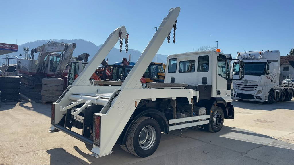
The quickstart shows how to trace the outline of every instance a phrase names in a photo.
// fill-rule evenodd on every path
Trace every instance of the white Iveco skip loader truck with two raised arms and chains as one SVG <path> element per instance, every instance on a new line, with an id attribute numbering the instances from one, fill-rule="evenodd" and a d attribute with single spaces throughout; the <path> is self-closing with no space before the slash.
<path id="1" fill-rule="evenodd" d="M 115 143 L 139 157 L 153 154 L 161 132 L 188 127 L 218 132 L 224 119 L 234 119 L 230 54 L 218 51 L 168 56 L 165 83 L 140 79 L 166 36 L 176 29 L 180 7 L 170 9 L 123 82 L 95 85 L 89 78 L 113 46 L 128 37 L 125 26 L 114 30 L 61 97 L 51 104 L 49 132 L 62 131 L 93 147 L 91 155 L 112 153 Z M 238 59 L 234 59 L 238 60 Z M 242 60 L 240 80 L 243 78 Z M 72 127 L 82 129 L 78 134 Z"/>

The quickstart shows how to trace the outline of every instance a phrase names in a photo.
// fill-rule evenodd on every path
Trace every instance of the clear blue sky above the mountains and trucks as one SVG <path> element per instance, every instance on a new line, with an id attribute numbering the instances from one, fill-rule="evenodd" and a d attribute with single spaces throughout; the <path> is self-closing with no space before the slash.
<path id="1" fill-rule="evenodd" d="M 215 41 L 224 53 L 233 56 L 244 50 L 280 50 L 286 55 L 294 47 L 293 0 L 27 0 L 1 1 L 1 6 L 2 43 L 82 38 L 100 45 L 114 29 L 124 25 L 129 48 L 142 52 L 155 33 L 153 27 L 160 25 L 171 7 L 180 6 L 176 43 L 165 41 L 160 54 L 189 52 L 192 47 L 215 45 Z"/>

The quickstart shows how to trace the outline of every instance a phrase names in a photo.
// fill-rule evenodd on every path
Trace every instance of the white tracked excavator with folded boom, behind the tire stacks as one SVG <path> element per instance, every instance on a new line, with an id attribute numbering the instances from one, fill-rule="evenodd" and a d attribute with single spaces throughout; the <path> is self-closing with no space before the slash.
<path id="1" fill-rule="evenodd" d="M 22 75 L 22 83 L 38 89 L 43 78 L 48 76 L 67 76 L 66 66 L 74 61 L 88 61 L 89 54 L 83 53 L 77 58 L 72 54 L 76 48 L 76 43 L 64 43 L 49 41 L 31 50 L 31 57 L 19 59 L 18 72 Z M 35 60 L 34 53 L 39 56 Z M 61 52 L 61 53 L 58 53 Z"/>

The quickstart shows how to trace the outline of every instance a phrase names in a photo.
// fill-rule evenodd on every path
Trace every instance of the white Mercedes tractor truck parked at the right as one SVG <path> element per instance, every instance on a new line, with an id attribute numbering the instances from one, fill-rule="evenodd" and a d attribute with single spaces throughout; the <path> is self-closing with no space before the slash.
<path id="1" fill-rule="evenodd" d="M 237 52 L 237 58 L 245 62 L 245 77 L 234 81 L 234 99 L 252 100 L 272 104 L 274 100 L 290 101 L 292 87 L 279 87 L 280 52 L 248 51 Z M 233 64 L 233 78 L 239 77 L 239 64 Z"/>

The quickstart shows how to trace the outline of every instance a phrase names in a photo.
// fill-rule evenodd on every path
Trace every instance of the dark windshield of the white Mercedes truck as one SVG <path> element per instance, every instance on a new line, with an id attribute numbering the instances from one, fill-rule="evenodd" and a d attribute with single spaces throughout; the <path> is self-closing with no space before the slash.
<path id="1" fill-rule="evenodd" d="M 245 75 L 260 76 L 265 74 L 266 63 L 245 63 Z M 233 65 L 233 75 L 239 75 L 239 64 Z"/>

